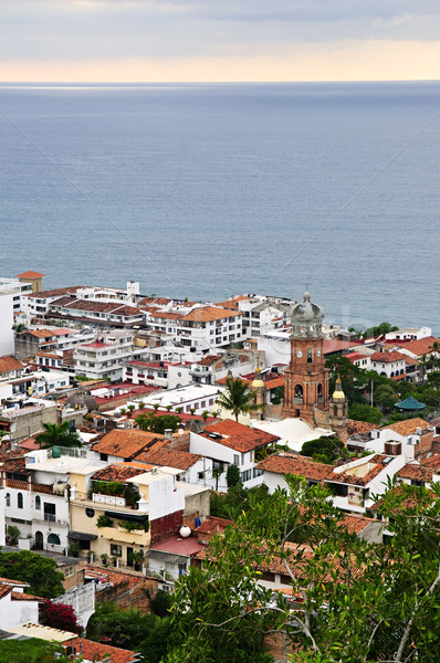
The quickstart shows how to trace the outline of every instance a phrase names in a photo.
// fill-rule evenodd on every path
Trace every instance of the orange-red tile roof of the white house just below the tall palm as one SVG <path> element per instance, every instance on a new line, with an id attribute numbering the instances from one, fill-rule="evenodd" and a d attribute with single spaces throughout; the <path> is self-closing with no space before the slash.
<path id="1" fill-rule="evenodd" d="M 210 436 L 210 433 L 217 433 L 221 438 L 214 439 Z M 259 429 L 251 429 L 231 419 L 223 419 L 222 421 L 206 425 L 199 435 L 241 453 L 264 446 L 265 444 L 272 444 L 280 440 L 277 435 L 272 435 Z"/>

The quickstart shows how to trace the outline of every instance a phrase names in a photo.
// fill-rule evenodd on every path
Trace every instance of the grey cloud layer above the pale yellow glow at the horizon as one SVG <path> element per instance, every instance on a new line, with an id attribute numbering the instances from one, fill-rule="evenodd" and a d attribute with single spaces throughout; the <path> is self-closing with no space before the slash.
<path id="1" fill-rule="evenodd" d="M 298 44 L 437 41 L 433 0 L 2 0 L 10 63 L 287 57 Z"/>

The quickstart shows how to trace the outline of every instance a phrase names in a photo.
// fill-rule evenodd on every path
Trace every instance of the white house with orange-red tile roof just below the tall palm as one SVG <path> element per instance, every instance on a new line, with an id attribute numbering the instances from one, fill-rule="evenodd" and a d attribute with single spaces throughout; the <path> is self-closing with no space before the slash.
<path id="1" fill-rule="evenodd" d="M 255 469 L 259 453 L 273 449 L 279 440 L 277 435 L 226 419 L 206 425 L 199 433 L 191 431 L 190 452 L 212 461 L 214 476 L 207 477 L 212 488 L 228 490 L 226 473 L 231 464 L 239 467 L 244 486 L 252 487 L 262 483 L 263 472 Z"/>

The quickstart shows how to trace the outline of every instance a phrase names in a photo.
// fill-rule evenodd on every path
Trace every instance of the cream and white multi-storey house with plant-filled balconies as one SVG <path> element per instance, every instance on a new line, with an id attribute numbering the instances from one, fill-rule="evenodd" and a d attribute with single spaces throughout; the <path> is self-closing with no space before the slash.
<path id="1" fill-rule="evenodd" d="M 185 494 L 179 473 L 135 461 L 87 475 L 72 473 L 71 538 L 95 558 L 133 567 L 137 554 L 181 526 Z"/>

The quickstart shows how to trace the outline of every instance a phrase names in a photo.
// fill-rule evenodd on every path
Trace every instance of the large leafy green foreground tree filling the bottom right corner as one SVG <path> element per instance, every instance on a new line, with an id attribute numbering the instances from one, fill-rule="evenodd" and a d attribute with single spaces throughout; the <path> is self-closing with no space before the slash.
<path id="1" fill-rule="evenodd" d="M 165 661 L 260 663 L 265 635 L 282 632 L 296 663 L 437 663 L 440 485 L 388 486 L 378 504 L 385 545 L 350 533 L 322 486 L 287 483 L 289 494 L 243 511 L 211 539 L 203 568 L 180 579 Z M 301 599 L 293 610 L 259 582 L 274 559 Z"/>

